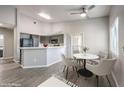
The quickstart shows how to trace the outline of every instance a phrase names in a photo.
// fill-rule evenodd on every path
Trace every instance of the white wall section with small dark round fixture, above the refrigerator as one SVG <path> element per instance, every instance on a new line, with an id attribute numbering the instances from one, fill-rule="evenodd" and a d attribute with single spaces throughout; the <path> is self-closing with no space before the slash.
<path id="1" fill-rule="evenodd" d="M 34 24 L 36 22 L 36 24 Z M 36 35 L 46 35 L 51 31 L 50 23 L 41 22 L 32 17 L 18 14 L 18 31 Z"/>

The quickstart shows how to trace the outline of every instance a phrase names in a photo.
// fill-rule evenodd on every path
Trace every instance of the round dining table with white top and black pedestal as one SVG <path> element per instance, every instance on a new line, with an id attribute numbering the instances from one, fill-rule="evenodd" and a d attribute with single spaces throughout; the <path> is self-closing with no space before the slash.
<path id="1" fill-rule="evenodd" d="M 78 73 L 85 77 L 91 77 L 93 75 L 92 72 L 86 69 L 87 60 L 98 59 L 99 56 L 90 53 L 78 53 L 73 55 L 77 60 L 83 60 L 84 67 L 78 70 Z"/>

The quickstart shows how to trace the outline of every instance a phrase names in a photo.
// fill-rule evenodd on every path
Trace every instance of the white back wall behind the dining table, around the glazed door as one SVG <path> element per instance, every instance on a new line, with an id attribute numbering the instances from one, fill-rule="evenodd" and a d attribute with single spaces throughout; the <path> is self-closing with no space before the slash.
<path id="1" fill-rule="evenodd" d="M 87 46 L 89 48 L 89 52 L 92 53 L 98 53 L 99 51 L 108 52 L 109 43 L 108 17 L 82 21 L 53 23 L 52 26 L 53 26 L 52 32 L 54 33 L 67 33 L 68 35 L 75 33 L 84 33 L 84 46 Z M 68 47 L 70 47 L 69 44 Z M 70 49 L 68 48 L 68 50 Z"/>

